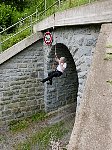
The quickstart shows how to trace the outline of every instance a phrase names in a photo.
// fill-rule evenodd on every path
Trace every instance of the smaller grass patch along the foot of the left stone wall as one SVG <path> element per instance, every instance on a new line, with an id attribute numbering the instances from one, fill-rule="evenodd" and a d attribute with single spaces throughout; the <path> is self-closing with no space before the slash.
<path id="1" fill-rule="evenodd" d="M 38 112 L 31 117 L 28 117 L 24 120 L 16 121 L 13 120 L 9 124 L 9 128 L 12 132 L 20 132 L 22 130 L 27 129 L 32 122 L 44 121 L 48 118 L 48 115 L 45 112 Z"/>

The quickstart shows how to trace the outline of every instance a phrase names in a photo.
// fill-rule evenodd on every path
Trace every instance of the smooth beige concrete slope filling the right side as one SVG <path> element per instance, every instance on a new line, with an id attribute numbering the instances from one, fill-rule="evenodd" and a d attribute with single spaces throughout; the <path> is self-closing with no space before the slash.
<path id="1" fill-rule="evenodd" d="M 112 24 L 103 24 L 68 150 L 112 150 Z"/>

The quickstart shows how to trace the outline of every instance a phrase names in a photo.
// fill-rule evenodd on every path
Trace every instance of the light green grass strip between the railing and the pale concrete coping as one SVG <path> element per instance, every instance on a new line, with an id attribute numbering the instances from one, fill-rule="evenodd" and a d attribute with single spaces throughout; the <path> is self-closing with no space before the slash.
<path id="1" fill-rule="evenodd" d="M 94 2 L 94 1 L 96 1 L 96 0 L 91 0 L 91 2 Z M 42 19 L 45 19 L 46 17 L 52 15 L 55 12 L 63 11 L 63 10 L 69 9 L 71 7 L 77 7 L 77 6 L 80 6 L 80 5 L 87 4 L 87 3 L 89 3 L 89 0 L 69 0 L 69 1 L 66 0 L 66 1 L 63 1 L 63 3 L 61 4 L 60 8 L 57 5 L 52 7 L 51 9 L 49 9 L 46 12 L 46 16 L 45 16 L 45 14 L 40 16 L 39 21 L 41 21 Z M 32 19 L 33 19 L 33 21 L 35 21 L 36 20 L 36 16 L 33 17 Z M 14 33 L 2 35 L 2 41 L 4 39 L 6 39 L 7 37 L 17 33 L 17 31 L 20 31 L 21 28 L 23 29 L 23 28 L 27 27 L 29 23 L 30 23 L 29 20 L 26 20 L 26 22 L 24 21 L 24 25 L 22 25 L 22 27 L 18 27 L 17 30 Z M 28 37 L 31 34 L 30 33 L 30 29 L 31 28 L 28 28 L 27 30 L 23 31 L 22 33 L 14 36 L 11 39 L 9 39 L 6 42 L 4 42 L 2 44 L 2 50 L 0 50 L 0 53 L 5 51 L 7 48 L 13 46 L 17 42 L 19 42 L 19 41 L 23 40 L 24 38 Z"/>

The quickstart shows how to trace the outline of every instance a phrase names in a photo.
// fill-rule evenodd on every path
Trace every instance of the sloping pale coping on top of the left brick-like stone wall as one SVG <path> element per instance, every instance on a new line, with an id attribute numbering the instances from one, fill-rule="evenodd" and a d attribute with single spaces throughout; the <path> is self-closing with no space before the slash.
<path id="1" fill-rule="evenodd" d="M 4 63 L 11 57 L 15 56 L 17 53 L 21 52 L 31 44 L 35 43 L 37 40 L 42 39 L 43 34 L 42 32 L 36 32 L 29 37 L 23 39 L 22 41 L 16 43 L 12 47 L 5 50 L 3 53 L 0 54 L 0 64 Z"/>

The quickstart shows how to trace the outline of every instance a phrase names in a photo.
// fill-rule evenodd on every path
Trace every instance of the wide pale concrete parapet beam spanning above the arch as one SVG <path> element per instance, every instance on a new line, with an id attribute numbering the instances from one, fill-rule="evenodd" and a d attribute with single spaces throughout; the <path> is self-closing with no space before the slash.
<path id="1" fill-rule="evenodd" d="M 33 26 L 33 31 L 52 27 L 112 22 L 112 1 L 102 0 L 55 13 Z"/>

